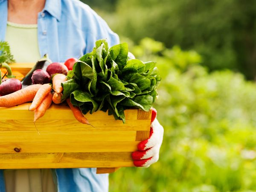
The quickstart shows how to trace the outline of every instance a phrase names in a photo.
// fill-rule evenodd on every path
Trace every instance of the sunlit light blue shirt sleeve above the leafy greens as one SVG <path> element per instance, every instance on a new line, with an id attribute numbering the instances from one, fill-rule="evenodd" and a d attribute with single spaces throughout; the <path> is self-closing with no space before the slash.
<path id="1" fill-rule="evenodd" d="M 91 10 L 90 18 L 88 20 L 90 25 L 87 29 L 86 48 L 85 52 L 89 53 L 95 47 L 96 40 L 106 39 L 109 47 L 119 44 L 119 36 L 114 33 L 95 11 Z"/>

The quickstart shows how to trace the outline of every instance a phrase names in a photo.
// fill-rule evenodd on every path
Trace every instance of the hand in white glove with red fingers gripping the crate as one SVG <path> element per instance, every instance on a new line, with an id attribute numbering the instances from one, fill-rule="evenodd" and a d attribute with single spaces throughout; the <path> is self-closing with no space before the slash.
<path id="1" fill-rule="evenodd" d="M 163 126 L 156 119 L 157 111 L 152 109 L 150 136 L 138 144 L 138 151 L 131 154 L 135 166 L 149 167 L 159 159 L 163 141 Z"/>

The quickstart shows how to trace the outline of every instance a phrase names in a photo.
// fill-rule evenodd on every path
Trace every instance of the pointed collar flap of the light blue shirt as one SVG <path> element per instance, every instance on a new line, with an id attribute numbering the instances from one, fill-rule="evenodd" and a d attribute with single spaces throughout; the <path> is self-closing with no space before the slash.
<path id="1" fill-rule="evenodd" d="M 61 19 L 61 0 L 46 0 L 43 11 L 47 11 L 59 21 Z"/>

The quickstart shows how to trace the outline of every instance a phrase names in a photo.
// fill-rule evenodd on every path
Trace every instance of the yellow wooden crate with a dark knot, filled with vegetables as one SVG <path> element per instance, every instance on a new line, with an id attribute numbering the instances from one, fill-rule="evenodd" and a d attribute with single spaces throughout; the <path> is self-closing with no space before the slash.
<path id="1" fill-rule="evenodd" d="M 28 69 L 29 70 L 29 69 Z M 33 123 L 30 103 L 0 107 L 0 169 L 97 167 L 97 173 L 134 166 L 131 152 L 149 137 L 151 111 L 125 110 L 126 123 L 98 111 L 79 123 L 64 103 Z"/>

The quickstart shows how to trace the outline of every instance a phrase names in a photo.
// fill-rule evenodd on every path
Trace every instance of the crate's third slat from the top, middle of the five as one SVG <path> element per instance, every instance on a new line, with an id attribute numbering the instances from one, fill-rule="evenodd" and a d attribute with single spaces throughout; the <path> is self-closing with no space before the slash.
<path id="1" fill-rule="evenodd" d="M 39 130 L 38 130 L 39 131 Z M 2 142 L 108 142 L 134 141 L 135 131 L 97 131 L 97 132 L 0 132 Z"/>

